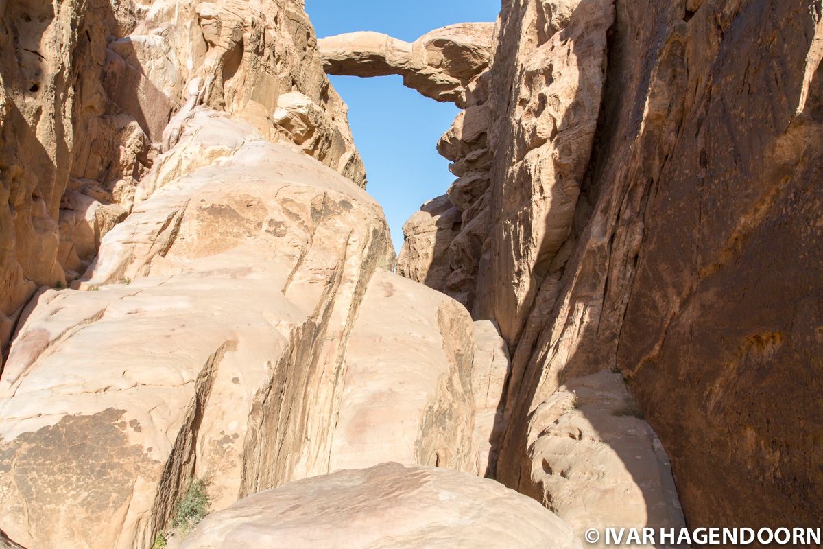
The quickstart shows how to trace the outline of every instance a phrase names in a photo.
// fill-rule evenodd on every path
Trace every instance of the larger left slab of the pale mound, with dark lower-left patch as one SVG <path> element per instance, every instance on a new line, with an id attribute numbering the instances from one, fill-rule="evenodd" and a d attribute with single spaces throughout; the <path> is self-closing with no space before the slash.
<path id="1" fill-rule="evenodd" d="M 0 505 L 18 542 L 150 547 L 192 476 L 214 479 L 219 509 L 328 471 L 305 443 L 333 425 L 324 399 L 365 285 L 392 262 L 388 229 L 300 151 L 226 114 L 192 123 L 216 120 L 234 132 L 193 140 L 235 151 L 158 188 L 105 235 L 86 291 L 40 295 L 16 337 Z"/>

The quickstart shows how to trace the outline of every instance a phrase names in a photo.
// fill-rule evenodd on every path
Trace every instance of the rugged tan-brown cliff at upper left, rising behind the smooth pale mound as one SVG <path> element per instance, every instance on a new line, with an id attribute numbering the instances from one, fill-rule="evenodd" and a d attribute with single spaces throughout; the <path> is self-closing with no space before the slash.
<path id="1" fill-rule="evenodd" d="M 37 287 L 86 269 L 195 105 L 253 120 L 365 184 L 299 2 L 9 0 L 0 16 L 4 351 Z M 291 93 L 305 97 L 299 109 L 281 100 Z"/>

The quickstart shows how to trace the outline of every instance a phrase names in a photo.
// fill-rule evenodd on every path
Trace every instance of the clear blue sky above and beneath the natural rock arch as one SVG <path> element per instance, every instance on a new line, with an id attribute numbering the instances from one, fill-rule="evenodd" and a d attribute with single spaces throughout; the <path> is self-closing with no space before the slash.
<path id="1" fill-rule="evenodd" d="M 305 6 L 319 38 L 376 30 L 409 42 L 453 23 L 495 21 L 500 12 L 500 0 L 305 0 Z M 330 79 L 349 105 L 351 132 L 369 180 L 366 190 L 383 206 L 399 253 L 403 223 L 454 180 L 435 145 L 458 109 L 403 86 L 401 77 Z"/>

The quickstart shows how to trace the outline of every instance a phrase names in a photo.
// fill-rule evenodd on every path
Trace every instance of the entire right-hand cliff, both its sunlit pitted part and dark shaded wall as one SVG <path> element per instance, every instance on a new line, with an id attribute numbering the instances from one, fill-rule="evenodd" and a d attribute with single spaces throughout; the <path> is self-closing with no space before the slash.
<path id="1" fill-rule="evenodd" d="M 512 347 L 509 486 L 542 482 L 530 434 L 560 385 L 620 370 L 691 526 L 823 513 L 821 13 L 504 2 L 485 90 L 439 146 L 462 224 L 413 223 L 401 272 Z"/>

